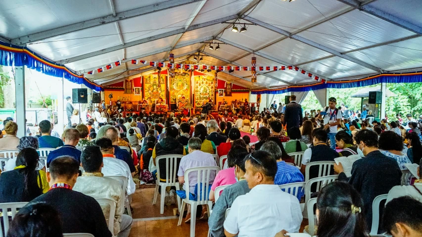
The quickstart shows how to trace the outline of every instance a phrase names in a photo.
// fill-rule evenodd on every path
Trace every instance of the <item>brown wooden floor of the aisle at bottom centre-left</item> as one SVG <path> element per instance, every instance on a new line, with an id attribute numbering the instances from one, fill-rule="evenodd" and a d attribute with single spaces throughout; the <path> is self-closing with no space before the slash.
<path id="1" fill-rule="evenodd" d="M 160 195 L 155 205 L 152 205 L 153 197 L 154 188 L 136 190 L 132 197 L 134 223 L 129 237 L 188 237 L 190 224 L 182 222 L 177 226 L 178 216 L 173 216 L 173 208 L 177 205 L 164 205 L 164 214 L 160 214 Z M 308 220 L 304 219 L 300 232 L 307 224 Z M 196 220 L 195 237 L 206 237 L 207 233 L 207 220 Z"/>

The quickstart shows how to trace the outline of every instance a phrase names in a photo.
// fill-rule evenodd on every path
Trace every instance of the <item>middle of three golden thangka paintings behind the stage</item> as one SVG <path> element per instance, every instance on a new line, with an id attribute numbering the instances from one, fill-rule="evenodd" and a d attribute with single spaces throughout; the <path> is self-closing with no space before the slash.
<path id="1" fill-rule="evenodd" d="M 177 104 L 179 110 L 190 103 L 190 73 L 176 73 L 170 78 L 170 103 Z"/>

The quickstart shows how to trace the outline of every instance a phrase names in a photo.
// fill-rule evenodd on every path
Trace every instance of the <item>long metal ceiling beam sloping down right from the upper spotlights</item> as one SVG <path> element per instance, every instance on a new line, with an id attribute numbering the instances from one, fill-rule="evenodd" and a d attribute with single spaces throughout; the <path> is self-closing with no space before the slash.
<path id="1" fill-rule="evenodd" d="M 273 25 L 270 25 L 270 24 L 268 24 L 268 23 L 262 22 L 262 21 L 260 21 L 260 20 L 254 19 L 254 18 L 249 17 L 249 16 L 246 16 L 246 17 L 244 17 L 243 19 L 244 19 L 244 20 L 247 20 L 247 21 L 249 21 L 249 22 L 255 23 L 255 24 L 257 24 L 258 26 L 264 27 L 264 28 L 266 28 L 266 29 L 268 29 L 268 30 L 274 31 L 274 32 L 276 32 L 276 33 L 279 33 L 279 34 L 281 34 L 281 35 L 283 35 L 283 36 L 286 36 L 286 37 L 288 37 L 288 38 L 291 38 L 291 39 L 293 39 L 293 40 L 297 40 L 297 41 L 299 41 L 299 42 L 302 42 L 302 43 L 308 44 L 308 45 L 313 46 L 313 47 L 315 47 L 315 48 L 318 48 L 318 49 L 320 49 L 320 50 L 323 50 L 323 51 L 326 51 L 326 52 L 328 52 L 328 53 L 334 54 L 335 56 L 338 56 L 338 57 L 340 57 L 340 58 L 346 59 L 346 60 L 348 60 L 348 61 L 354 62 L 354 63 L 356 63 L 356 64 L 359 64 L 359 65 L 361 65 L 361 66 L 364 66 L 364 67 L 366 67 L 366 68 L 369 68 L 369 69 L 371 69 L 371 70 L 374 70 L 375 72 L 379 72 L 379 73 L 383 73 L 383 72 L 384 72 L 384 70 L 382 70 L 382 69 L 380 69 L 380 68 L 378 68 L 378 67 L 375 67 L 375 66 L 373 66 L 373 65 L 371 65 L 371 64 L 369 64 L 369 63 L 365 63 L 365 62 L 363 62 L 363 61 L 361 61 L 361 60 L 359 60 L 359 59 L 356 59 L 356 58 L 350 57 L 350 56 L 348 56 L 348 55 L 341 54 L 340 52 L 338 52 L 338 51 L 336 51 L 336 50 L 334 50 L 334 49 L 328 48 L 328 47 L 326 47 L 326 46 L 324 46 L 324 45 L 321 45 L 321 44 L 319 44 L 319 43 L 316 43 L 316 42 L 314 42 L 314 41 L 312 41 L 312 40 L 305 39 L 305 38 L 303 38 L 303 37 L 301 37 L 301 36 L 298 36 L 298 35 L 292 35 L 290 32 L 287 32 L 287 31 L 285 31 L 285 30 L 283 30 L 283 29 L 277 28 L 277 27 L 275 27 L 275 26 L 273 26 Z"/>

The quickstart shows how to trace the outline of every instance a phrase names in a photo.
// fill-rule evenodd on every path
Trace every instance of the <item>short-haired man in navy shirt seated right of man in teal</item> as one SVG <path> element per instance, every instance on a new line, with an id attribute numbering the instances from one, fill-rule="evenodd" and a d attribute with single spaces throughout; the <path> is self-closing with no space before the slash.
<path id="1" fill-rule="evenodd" d="M 50 162 L 61 156 L 69 156 L 81 163 L 81 151 L 76 149 L 76 145 L 79 142 L 79 131 L 75 128 L 68 128 L 64 131 L 63 135 L 64 146 L 61 148 L 51 151 L 47 157 L 47 167 Z"/>

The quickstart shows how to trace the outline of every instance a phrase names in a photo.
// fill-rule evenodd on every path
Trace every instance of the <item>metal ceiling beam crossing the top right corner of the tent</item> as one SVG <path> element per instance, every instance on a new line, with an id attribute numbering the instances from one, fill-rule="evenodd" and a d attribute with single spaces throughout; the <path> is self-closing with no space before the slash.
<path id="1" fill-rule="evenodd" d="M 407 22 L 403 19 L 400 19 L 398 17 L 395 17 L 389 13 L 386 13 L 384 11 L 381 11 L 373 6 L 370 5 L 362 5 L 360 1 L 358 0 L 338 0 L 344 4 L 347 4 L 349 6 L 353 6 L 354 8 L 363 11 L 365 13 L 368 13 L 370 15 L 373 15 L 375 17 L 378 17 L 384 21 L 387 21 L 389 23 L 392 23 L 396 26 L 399 26 L 401 28 L 404 28 L 406 30 L 409 30 L 411 32 L 414 32 L 416 34 L 422 35 L 422 28 L 419 26 L 416 26 L 410 22 Z"/>

